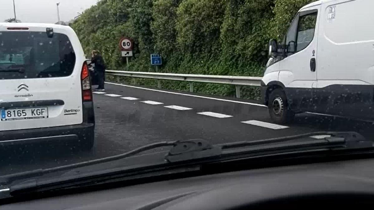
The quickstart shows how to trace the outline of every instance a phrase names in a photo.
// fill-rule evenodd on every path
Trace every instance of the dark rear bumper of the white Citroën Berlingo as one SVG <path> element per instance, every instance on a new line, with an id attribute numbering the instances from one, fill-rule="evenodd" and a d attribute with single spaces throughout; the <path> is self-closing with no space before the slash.
<path id="1" fill-rule="evenodd" d="M 94 123 L 82 123 L 72 126 L 0 131 L 0 146 L 44 142 L 78 143 L 93 138 L 94 130 Z"/>

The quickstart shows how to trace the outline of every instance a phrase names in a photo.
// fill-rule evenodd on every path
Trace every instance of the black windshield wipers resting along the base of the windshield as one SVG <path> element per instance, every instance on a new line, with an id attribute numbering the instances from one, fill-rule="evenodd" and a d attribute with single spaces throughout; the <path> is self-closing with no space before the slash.
<path id="1" fill-rule="evenodd" d="M 310 136 L 315 135 L 331 135 L 331 137 L 324 138 L 324 139 L 315 139 L 309 140 L 304 142 L 292 142 L 289 143 L 288 141 L 297 140 L 301 138 L 307 138 Z M 62 170 L 69 170 L 69 169 L 76 169 L 79 167 L 89 166 L 93 164 L 105 163 L 115 160 L 120 160 L 123 158 L 128 158 L 139 154 L 140 152 L 144 152 L 150 149 L 164 147 L 164 146 L 173 146 L 168 154 L 165 156 L 165 160 L 170 163 L 176 163 L 186 160 L 196 160 L 200 158 L 206 157 L 217 157 L 223 154 L 224 149 L 235 149 L 235 148 L 244 148 L 248 146 L 261 146 L 273 143 L 283 143 L 283 145 L 274 145 L 269 146 L 268 148 L 275 150 L 286 149 L 286 148 L 293 148 L 299 151 L 305 151 L 311 147 L 325 148 L 325 149 L 359 149 L 359 148 L 373 148 L 373 141 L 366 140 L 362 135 L 355 132 L 312 132 L 312 133 L 304 133 L 302 135 L 294 135 L 294 136 L 285 136 L 281 138 L 272 138 L 272 139 L 264 139 L 264 140 L 255 140 L 255 141 L 242 141 L 242 142 L 233 142 L 233 143 L 225 143 L 219 145 L 211 145 L 209 142 L 201 139 L 194 139 L 194 140 L 185 140 L 185 141 L 170 141 L 170 142 L 159 142 L 159 143 L 152 143 L 146 146 L 142 146 L 140 148 L 134 149 L 132 151 L 114 155 L 111 157 L 105 157 L 96 160 L 85 161 L 81 163 L 75 163 L 65 166 L 54 167 L 50 169 L 37 169 L 28 172 L 21 172 L 15 173 L 10 175 L 5 175 L 0 177 L 0 184 L 9 184 L 15 180 L 19 179 L 27 179 L 30 177 L 42 176 L 47 173 L 58 172 Z M 265 147 L 265 146 L 264 146 Z M 245 149 L 246 151 L 251 151 L 249 149 Z M 262 149 L 252 149 L 253 152 L 258 151 L 266 151 L 269 150 L 267 147 Z"/>

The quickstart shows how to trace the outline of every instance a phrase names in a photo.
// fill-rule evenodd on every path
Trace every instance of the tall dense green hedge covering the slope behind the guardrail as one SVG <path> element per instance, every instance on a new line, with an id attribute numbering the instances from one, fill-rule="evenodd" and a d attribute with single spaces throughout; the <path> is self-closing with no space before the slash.
<path id="1" fill-rule="evenodd" d="M 101 0 L 71 26 L 86 55 L 99 50 L 111 70 L 155 71 L 149 56 L 160 53 L 160 72 L 262 76 L 269 39 L 281 40 L 297 10 L 312 1 Z M 120 37 L 131 37 L 135 43 L 128 66 L 120 57 Z M 157 82 L 138 80 L 138 84 Z M 162 87 L 189 89 L 187 83 L 176 81 L 162 81 Z M 231 85 L 194 87 L 201 93 L 235 95 Z M 259 91 L 242 87 L 242 96 L 258 99 Z"/>

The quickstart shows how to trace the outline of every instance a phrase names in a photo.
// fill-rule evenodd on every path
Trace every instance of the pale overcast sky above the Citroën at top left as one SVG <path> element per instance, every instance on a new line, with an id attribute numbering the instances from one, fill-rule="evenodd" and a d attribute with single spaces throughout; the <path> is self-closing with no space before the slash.
<path id="1" fill-rule="evenodd" d="M 60 2 L 61 21 L 70 21 L 98 0 L 15 0 L 16 16 L 22 22 L 57 22 L 56 3 Z M 14 18 L 13 0 L 0 0 L 0 22 Z"/>

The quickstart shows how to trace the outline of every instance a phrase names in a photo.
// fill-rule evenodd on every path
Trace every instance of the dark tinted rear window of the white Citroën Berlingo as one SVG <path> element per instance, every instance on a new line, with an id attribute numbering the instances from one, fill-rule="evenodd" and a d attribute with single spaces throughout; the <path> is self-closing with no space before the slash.
<path id="1" fill-rule="evenodd" d="M 76 56 L 65 34 L 0 31 L 0 79 L 65 77 Z"/>

